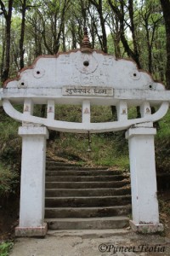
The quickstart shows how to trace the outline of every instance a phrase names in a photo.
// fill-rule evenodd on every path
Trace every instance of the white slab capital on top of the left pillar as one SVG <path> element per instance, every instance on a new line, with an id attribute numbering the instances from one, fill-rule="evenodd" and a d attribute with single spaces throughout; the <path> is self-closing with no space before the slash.
<path id="1" fill-rule="evenodd" d="M 48 129 L 46 126 L 20 126 L 19 135 L 25 136 L 44 136 L 48 139 Z"/>

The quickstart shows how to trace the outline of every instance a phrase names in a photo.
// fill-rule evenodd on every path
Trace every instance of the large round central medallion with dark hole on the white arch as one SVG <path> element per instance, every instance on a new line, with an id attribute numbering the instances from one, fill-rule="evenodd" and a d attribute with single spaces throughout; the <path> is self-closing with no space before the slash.
<path id="1" fill-rule="evenodd" d="M 76 59 L 75 66 L 81 73 L 94 73 L 98 67 L 98 61 L 93 55 L 81 54 Z"/>

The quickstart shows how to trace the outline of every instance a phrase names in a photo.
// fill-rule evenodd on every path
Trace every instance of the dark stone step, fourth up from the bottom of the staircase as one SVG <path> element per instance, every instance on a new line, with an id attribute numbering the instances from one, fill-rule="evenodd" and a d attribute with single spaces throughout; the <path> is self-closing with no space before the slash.
<path id="1" fill-rule="evenodd" d="M 130 195 L 130 188 L 119 189 L 46 189 L 46 196 L 107 196 L 107 195 Z"/>

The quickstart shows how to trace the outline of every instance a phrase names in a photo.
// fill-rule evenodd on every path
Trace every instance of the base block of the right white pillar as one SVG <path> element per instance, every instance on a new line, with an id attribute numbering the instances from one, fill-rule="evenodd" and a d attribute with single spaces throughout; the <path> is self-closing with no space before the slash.
<path id="1" fill-rule="evenodd" d="M 133 231 L 142 234 L 157 233 L 164 230 L 163 224 L 135 224 L 133 220 L 130 220 L 129 224 Z"/>

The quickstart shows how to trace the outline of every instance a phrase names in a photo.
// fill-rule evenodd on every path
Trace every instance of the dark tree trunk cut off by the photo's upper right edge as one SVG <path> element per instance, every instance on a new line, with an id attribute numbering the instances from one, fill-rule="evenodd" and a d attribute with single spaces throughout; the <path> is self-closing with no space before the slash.
<path id="1" fill-rule="evenodd" d="M 160 0 L 167 34 L 167 89 L 170 90 L 170 1 Z"/>

